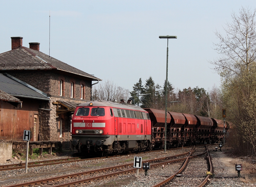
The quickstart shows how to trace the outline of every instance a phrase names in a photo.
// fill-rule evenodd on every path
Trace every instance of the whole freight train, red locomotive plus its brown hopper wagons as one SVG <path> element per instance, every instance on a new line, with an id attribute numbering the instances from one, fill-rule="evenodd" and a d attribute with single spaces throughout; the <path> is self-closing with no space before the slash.
<path id="1" fill-rule="evenodd" d="M 121 153 L 163 149 L 165 111 L 113 101 L 77 106 L 72 117 L 72 148 L 79 152 Z M 166 148 L 222 141 L 214 118 L 167 112 Z"/>

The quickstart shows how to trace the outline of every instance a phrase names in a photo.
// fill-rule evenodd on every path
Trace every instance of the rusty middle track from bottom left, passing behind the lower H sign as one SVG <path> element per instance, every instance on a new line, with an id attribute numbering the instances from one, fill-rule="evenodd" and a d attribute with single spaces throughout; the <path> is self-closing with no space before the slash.
<path id="1" fill-rule="evenodd" d="M 195 147 L 191 149 L 188 152 L 181 153 L 178 155 L 174 156 L 169 156 L 169 157 L 163 157 L 163 158 L 158 158 L 158 159 L 151 159 L 151 160 L 146 160 L 143 162 L 150 162 L 152 163 L 152 167 L 156 166 L 161 166 L 163 164 L 168 164 L 168 163 L 176 163 L 179 161 L 186 160 L 186 157 L 183 157 L 184 155 L 191 154 L 193 152 Z M 176 158 L 171 160 L 172 158 Z M 48 179 L 43 179 L 43 180 L 37 180 L 37 181 L 31 181 L 31 182 L 26 182 L 26 183 L 20 183 L 20 184 L 15 184 L 11 185 L 8 187 L 21 187 L 21 186 L 72 186 L 74 184 L 81 184 L 85 182 L 90 182 L 93 180 L 98 180 L 98 179 L 103 179 L 111 176 L 116 176 L 120 174 L 125 174 L 125 173 L 131 173 L 136 171 L 136 168 L 133 168 L 133 163 L 129 164 L 123 164 L 119 166 L 114 166 L 114 167 L 109 167 L 109 168 L 102 168 L 102 169 L 97 169 L 97 170 L 91 170 L 91 171 L 85 171 L 85 172 L 80 172 L 80 173 L 74 173 L 74 174 L 68 174 L 68 175 L 63 175 L 59 177 L 53 177 L 53 178 L 48 178 Z"/>

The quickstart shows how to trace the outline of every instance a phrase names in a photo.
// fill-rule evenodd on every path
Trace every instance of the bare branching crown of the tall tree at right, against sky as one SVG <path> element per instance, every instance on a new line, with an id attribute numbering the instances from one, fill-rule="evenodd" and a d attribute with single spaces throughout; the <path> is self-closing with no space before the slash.
<path id="1" fill-rule="evenodd" d="M 242 76 L 241 70 L 249 71 L 250 65 L 256 58 L 256 9 L 252 12 L 249 8 L 241 8 L 239 16 L 232 13 L 232 23 L 227 23 L 224 28 L 226 35 L 215 32 L 220 42 L 215 44 L 219 59 L 210 62 L 215 65 L 215 70 L 225 79 L 232 75 Z"/>

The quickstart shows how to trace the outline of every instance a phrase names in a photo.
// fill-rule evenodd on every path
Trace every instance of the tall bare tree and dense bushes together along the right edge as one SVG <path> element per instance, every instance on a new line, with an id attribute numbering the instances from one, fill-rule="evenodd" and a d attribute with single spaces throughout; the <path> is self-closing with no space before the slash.
<path id="1" fill-rule="evenodd" d="M 235 152 L 256 156 L 256 22 L 255 10 L 242 7 L 232 13 L 225 35 L 216 32 L 220 57 L 211 62 L 222 78 L 223 105 L 227 121 L 233 124 L 230 136 Z"/>

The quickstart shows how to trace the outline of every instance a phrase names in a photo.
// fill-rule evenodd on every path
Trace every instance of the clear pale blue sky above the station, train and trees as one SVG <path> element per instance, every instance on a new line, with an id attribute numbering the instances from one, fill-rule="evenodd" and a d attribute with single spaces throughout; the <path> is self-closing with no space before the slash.
<path id="1" fill-rule="evenodd" d="M 0 53 L 10 37 L 23 46 L 40 42 L 50 56 L 97 78 L 132 90 L 152 76 L 163 86 L 169 39 L 168 81 L 175 88 L 220 85 L 208 63 L 218 57 L 214 32 L 231 21 L 231 12 L 256 1 L 3 1 L 0 0 Z"/>

